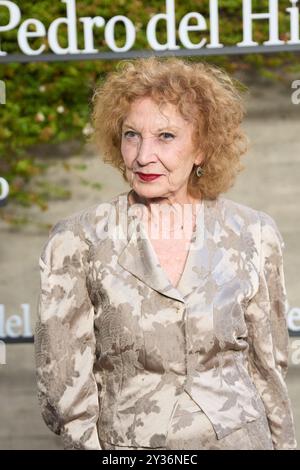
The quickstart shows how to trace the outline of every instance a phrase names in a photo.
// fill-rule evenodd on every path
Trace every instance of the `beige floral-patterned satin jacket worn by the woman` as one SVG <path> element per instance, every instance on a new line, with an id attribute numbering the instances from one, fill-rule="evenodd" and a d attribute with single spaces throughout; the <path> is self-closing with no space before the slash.
<path id="1" fill-rule="evenodd" d="M 128 193 L 57 222 L 39 259 L 43 418 L 66 449 L 294 449 L 274 220 L 202 200 L 175 288 Z"/>

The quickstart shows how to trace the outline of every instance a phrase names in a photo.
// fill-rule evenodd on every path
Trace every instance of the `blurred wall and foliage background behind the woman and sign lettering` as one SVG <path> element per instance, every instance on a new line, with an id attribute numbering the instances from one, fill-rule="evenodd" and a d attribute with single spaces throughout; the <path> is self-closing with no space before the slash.
<path id="1" fill-rule="evenodd" d="M 39 18 L 46 27 L 66 10 L 59 0 L 14 3 L 22 9 L 22 21 Z M 219 3 L 220 39 L 236 44 L 242 39 L 242 2 Z M 268 5 L 267 1 L 252 3 L 255 11 L 264 11 Z M 284 11 L 290 5 L 280 2 L 283 40 L 289 38 Z M 165 11 L 165 2 L 77 1 L 77 9 L 81 17 L 130 17 L 137 29 L 133 50 L 139 51 L 147 49 L 147 21 Z M 176 20 L 200 9 L 208 16 L 209 2 L 177 1 Z M 0 7 L 0 26 L 7 20 L 6 10 Z M 17 29 L 0 36 L 2 50 L 19 53 Z M 158 27 L 162 43 L 165 36 L 162 23 Z M 253 37 L 259 43 L 268 39 L 267 22 L 257 23 Z M 78 38 L 82 43 L 80 33 Z M 94 38 L 101 50 L 108 50 L 103 31 L 96 28 Z M 67 44 L 63 26 L 59 39 Z M 191 32 L 190 39 L 198 42 L 199 33 Z M 35 41 L 38 48 L 41 39 L 31 39 L 32 47 Z M 116 29 L 116 42 L 120 46 L 124 42 L 121 27 Z M 46 53 L 46 39 L 45 46 Z M 251 145 L 243 157 L 245 170 L 224 196 L 270 214 L 285 241 L 290 328 L 287 384 L 300 446 L 300 99 L 295 95 L 300 88 L 299 54 L 215 55 L 205 60 L 224 67 L 248 87 L 244 128 Z M 39 293 L 38 257 L 50 227 L 60 218 L 129 189 L 87 143 L 94 87 L 119 60 L 10 63 L 1 59 L 0 84 L 5 84 L 6 99 L 0 99 L 0 449 L 61 449 L 59 437 L 42 421 L 36 398 L 32 334 Z M 204 58 L 199 55 L 190 60 Z M 7 197 L 3 196 L 5 184 Z"/>

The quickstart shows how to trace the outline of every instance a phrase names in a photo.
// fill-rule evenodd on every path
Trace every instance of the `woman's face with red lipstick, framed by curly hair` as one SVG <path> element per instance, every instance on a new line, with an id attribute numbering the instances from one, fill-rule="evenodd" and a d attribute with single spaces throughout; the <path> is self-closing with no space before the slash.
<path id="1" fill-rule="evenodd" d="M 203 157 L 194 149 L 192 133 L 192 123 L 173 104 L 160 111 L 150 97 L 132 103 L 122 126 L 121 153 L 126 177 L 139 196 L 187 201 L 189 175 Z"/>

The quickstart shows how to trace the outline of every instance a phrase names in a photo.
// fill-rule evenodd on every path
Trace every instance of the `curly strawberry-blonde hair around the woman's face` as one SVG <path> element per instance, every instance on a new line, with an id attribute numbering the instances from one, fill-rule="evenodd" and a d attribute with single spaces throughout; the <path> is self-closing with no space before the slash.
<path id="1" fill-rule="evenodd" d="M 174 104 L 184 119 L 194 121 L 193 142 L 204 152 L 205 173 L 199 178 L 191 171 L 188 192 L 195 198 L 215 199 L 245 168 L 240 161 L 249 144 L 240 127 L 244 90 L 238 80 L 206 62 L 176 57 L 121 61 L 94 91 L 90 142 L 128 182 L 120 148 L 122 123 L 131 103 L 147 96 L 158 105 Z"/>

